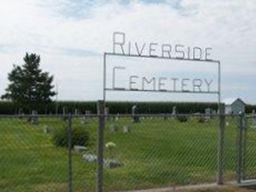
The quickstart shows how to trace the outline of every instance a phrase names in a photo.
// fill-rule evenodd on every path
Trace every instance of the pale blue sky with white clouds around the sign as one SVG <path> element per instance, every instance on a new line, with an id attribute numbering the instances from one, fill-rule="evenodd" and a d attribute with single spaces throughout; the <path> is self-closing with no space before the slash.
<path id="1" fill-rule="evenodd" d="M 256 104 L 255 0 L 1 0 L 0 94 L 13 64 L 23 64 L 29 52 L 39 54 L 42 69 L 54 75 L 58 100 L 102 99 L 103 53 L 112 52 L 115 31 L 132 42 L 211 47 L 212 58 L 221 62 L 221 98 Z M 160 63 L 158 72 L 172 75 Z M 191 72 L 200 76 L 200 70 Z M 147 74 L 136 64 L 132 71 Z M 107 99 L 216 101 L 216 96 L 111 92 Z"/>

